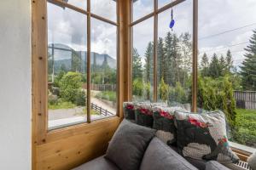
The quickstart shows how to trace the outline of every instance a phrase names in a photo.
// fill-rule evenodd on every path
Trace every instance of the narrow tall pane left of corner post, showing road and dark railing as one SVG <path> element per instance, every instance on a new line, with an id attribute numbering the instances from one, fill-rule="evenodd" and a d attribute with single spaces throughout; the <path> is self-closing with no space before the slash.
<path id="1" fill-rule="evenodd" d="M 117 27 L 91 19 L 91 120 L 116 115 Z"/>

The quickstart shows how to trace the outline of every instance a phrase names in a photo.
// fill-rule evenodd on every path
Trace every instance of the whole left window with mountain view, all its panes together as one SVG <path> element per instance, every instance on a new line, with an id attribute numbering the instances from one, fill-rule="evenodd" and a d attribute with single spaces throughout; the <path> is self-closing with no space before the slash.
<path id="1" fill-rule="evenodd" d="M 47 14 L 49 129 L 115 116 L 117 1 L 53 0 Z"/>

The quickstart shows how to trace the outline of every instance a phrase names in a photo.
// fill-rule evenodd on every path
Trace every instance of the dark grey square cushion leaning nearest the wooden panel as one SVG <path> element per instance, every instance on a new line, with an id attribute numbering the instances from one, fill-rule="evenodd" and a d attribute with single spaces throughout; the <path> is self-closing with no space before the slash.
<path id="1" fill-rule="evenodd" d="M 136 170 L 155 130 L 124 120 L 113 134 L 106 157 L 122 170 Z"/>

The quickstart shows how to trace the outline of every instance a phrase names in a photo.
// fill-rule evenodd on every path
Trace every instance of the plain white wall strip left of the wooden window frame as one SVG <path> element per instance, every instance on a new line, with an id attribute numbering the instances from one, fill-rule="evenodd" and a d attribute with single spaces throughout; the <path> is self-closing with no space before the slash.
<path id="1" fill-rule="evenodd" d="M 0 0 L 0 169 L 31 169 L 31 4 Z"/>

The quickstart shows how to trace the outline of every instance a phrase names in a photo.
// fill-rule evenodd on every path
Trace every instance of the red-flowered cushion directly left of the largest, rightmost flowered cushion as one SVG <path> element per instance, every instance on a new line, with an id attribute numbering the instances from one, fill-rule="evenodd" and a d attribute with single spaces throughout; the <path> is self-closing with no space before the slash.
<path id="1" fill-rule="evenodd" d="M 186 110 L 182 107 L 153 107 L 153 128 L 158 130 L 156 136 L 168 145 L 176 142 L 175 111 Z"/>

